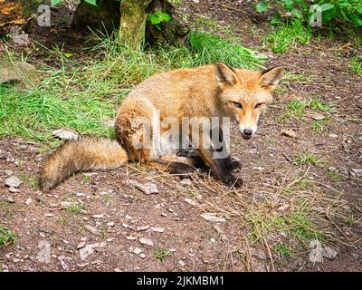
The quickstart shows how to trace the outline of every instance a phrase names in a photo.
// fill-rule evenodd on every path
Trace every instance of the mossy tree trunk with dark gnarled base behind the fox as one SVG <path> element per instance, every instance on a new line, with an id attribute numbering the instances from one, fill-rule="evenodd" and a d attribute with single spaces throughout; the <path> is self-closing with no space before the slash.
<path id="1" fill-rule="evenodd" d="M 1 1 L 1 0 L 0 0 Z M 148 20 L 148 14 L 161 11 L 171 16 L 171 21 L 155 26 Z M 119 27 L 119 40 L 134 50 L 142 43 L 185 44 L 188 27 L 177 21 L 175 8 L 167 0 L 99 0 L 98 5 L 84 1 L 74 14 L 72 27 L 77 30 L 106 30 L 109 34 Z M 105 28 L 105 29 L 104 29 Z"/>

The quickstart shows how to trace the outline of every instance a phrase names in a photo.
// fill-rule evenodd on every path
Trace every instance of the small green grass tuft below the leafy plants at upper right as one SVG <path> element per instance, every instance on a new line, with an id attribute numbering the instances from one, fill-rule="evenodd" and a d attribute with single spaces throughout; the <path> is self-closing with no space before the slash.
<path id="1" fill-rule="evenodd" d="M 284 53 L 297 43 L 310 43 L 311 37 L 310 27 L 305 27 L 300 20 L 296 20 L 274 27 L 270 34 L 264 36 L 262 43 L 270 44 L 274 53 Z"/>

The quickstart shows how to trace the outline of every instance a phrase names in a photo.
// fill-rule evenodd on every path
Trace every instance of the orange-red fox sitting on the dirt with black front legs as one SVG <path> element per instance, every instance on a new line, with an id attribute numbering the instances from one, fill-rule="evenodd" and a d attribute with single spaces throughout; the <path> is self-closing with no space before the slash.
<path id="1" fill-rule="evenodd" d="M 187 134 L 191 142 L 197 140 L 194 145 L 198 156 L 185 157 L 178 154 L 181 148 L 179 143 L 175 144 L 177 141 L 172 143 L 169 137 L 164 137 L 163 133 L 170 127 L 165 121 L 173 117 L 180 127 L 185 118 L 201 118 L 205 122 L 214 117 L 227 117 L 238 124 L 243 139 L 251 139 L 260 114 L 272 101 L 271 93 L 281 80 L 283 70 L 276 67 L 252 72 L 215 63 L 151 76 L 129 92 L 119 106 L 115 123 L 117 140 L 83 138 L 65 142 L 46 160 L 41 189 L 53 189 L 76 172 L 116 169 L 135 160 L 176 174 L 207 167 L 229 187 L 240 187 L 243 180 L 232 173 L 233 169 L 240 168 L 239 162 L 230 155 L 220 154 L 227 146 L 222 130 L 216 132 L 221 145 L 214 146 L 212 129 L 207 131 L 200 126 L 196 134 L 203 138 L 195 139 L 195 131 L 190 133 L 184 127 L 178 128 L 180 139 Z M 147 130 L 141 129 L 138 122 L 135 124 L 139 119 L 148 121 L 148 137 L 144 134 Z M 156 134 L 157 130 L 160 135 Z"/>

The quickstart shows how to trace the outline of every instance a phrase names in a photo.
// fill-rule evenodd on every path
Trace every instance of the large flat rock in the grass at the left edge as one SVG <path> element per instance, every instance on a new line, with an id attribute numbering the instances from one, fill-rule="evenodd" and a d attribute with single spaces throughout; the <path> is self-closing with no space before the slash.
<path id="1" fill-rule="evenodd" d="M 0 60 L 0 83 L 5 82 L 22 82 L 32 87 L 39 79 L 32 64 Z"/>

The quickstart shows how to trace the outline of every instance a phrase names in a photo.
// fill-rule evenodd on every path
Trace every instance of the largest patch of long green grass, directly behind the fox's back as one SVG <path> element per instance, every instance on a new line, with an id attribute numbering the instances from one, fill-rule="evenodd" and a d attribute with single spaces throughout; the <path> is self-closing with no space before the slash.
<path id="1" fill-rule="evenodd" d="M 0 85 L 0 138 L 20 136 L 52 145 L 56 129 L 112 137 L 106 121 L 114 119 L 119 102 L 131 88 L 153 73 L 223 61 L 235 67 L 262 67 L 263 58 L 216 34 L 192 33 L 192 52 L 186 47 L 131 51 L 110 38 L 99 39 L 94 57 L 77 61 L 62 48 L 49 51 L 54 67 L 43 66 L 41 83 L 23 91 Z M 13 57 L 7 55 L 7 57 Z"/>

